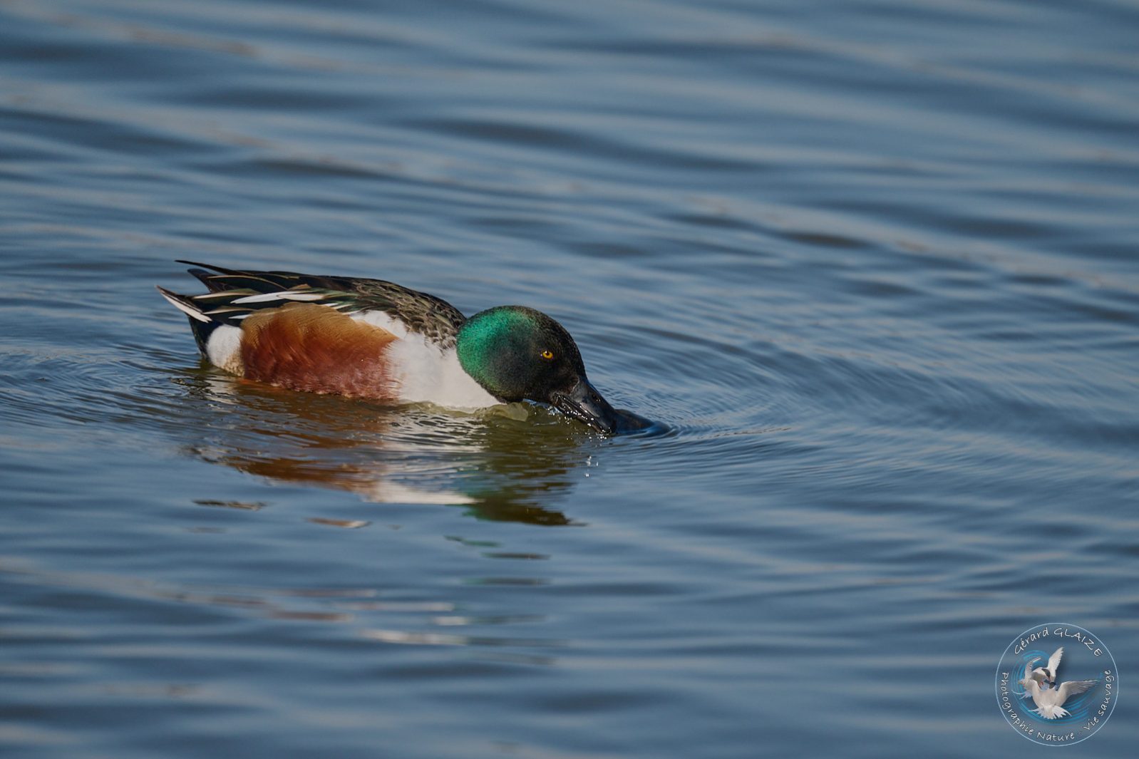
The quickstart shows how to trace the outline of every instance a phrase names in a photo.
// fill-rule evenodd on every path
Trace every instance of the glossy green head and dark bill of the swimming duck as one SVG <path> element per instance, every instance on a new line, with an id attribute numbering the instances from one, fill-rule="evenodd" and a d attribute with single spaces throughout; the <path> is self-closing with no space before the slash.
<path id="1" fill-rule="evenodd" d="M 459 364 L 502 401 L 549 403 L 598 432 L 623 424 L 585 377 L 585 365 L 565 327 L 524 305 L 499 305 L 467 319 L 457 340 Z"/>

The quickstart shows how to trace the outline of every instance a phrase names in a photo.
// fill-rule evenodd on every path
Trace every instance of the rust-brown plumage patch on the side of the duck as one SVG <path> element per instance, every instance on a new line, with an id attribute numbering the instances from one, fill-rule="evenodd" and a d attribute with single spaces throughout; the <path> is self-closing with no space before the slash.
<path id="1" fill-rule="evenodd" d="M 395 335 L 336 309 L 312 303 L 264 309 L 243 321 L 241 333 L 249 379 L 313 393 L 398 395 L 385 358 Z"/>

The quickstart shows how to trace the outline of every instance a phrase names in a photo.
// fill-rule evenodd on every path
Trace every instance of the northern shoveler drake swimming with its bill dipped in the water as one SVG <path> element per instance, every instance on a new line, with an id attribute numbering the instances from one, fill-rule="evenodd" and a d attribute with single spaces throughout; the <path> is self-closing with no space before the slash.
<path id="1" fill-rule="evenodd" d="M 468 319 L 380 279 L 179 263 L 210 292 L 158 292 L 189 317 L 203 356 L 248 379 L 459 409 L 531 400 L 604 433 L 650 424 L 609 406 L 573 337 L 541 311 L 499 305 Z"/>

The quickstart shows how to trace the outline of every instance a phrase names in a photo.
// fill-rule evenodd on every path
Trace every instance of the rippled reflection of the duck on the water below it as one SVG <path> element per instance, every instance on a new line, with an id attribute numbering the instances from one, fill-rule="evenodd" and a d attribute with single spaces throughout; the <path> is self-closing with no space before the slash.
<path id="1" fill-rule="evenodd" d="M 588 466 L 590 432 L 536 407 L 480 414 L 392 408 L 187 372 L 210 422 L 188 448 L 270 480 L 347 490 L 374 503 L 462 506 L 483 520 L 580 524 L 550 508 Z"/>

